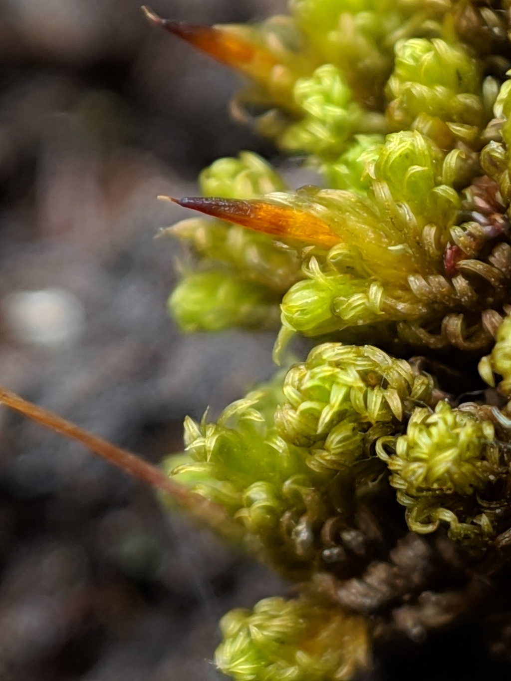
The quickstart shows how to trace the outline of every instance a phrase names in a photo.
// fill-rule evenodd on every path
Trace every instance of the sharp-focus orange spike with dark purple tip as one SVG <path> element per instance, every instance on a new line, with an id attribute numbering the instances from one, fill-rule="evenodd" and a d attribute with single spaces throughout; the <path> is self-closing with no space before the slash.
<path id="1" fill-rule="evenodd" d="M 291 206 L 270 204 L 263 200 L 243 201 L 200 196 L 187 196 L 174 201 L 183 208 L 198 210 L 211 217 L 278 238 L 328 248 L 341 240 L 322 219 Z"/>

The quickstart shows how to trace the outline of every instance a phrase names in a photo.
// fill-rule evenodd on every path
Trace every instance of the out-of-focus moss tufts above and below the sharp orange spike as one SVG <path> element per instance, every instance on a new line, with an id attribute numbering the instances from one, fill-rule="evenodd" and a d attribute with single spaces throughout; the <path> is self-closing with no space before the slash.
<path id="1" fill-rule="evenodd" d="M 204 195 L 251 199 L 285 185 L 260 156 L 242 152 L 202 171 Z M 185 270 L 168 305 L 184 331 L 219 331 L 230 326 L 275 326 L 283 291 L 300 278 L 295 253 L 278 251 L 264 234 L 221 220 L 192 218 L 172 227 L 199 257 Z"/>

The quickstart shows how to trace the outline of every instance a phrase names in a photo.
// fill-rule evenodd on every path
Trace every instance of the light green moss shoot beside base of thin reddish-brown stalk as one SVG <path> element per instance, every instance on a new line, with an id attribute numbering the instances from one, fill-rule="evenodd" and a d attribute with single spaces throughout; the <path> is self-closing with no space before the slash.
<path id="1" fill-rule="evenodd" d="M 225 505 L 245 526 L 247 543 L 255 541 L 256 552 L 283 571 L 303 570 L 311 556 L 298 556 L 293 541 L 283 541 L 281 518 L 294 511 L 298 522 L 308 505 L 316 516 L 325 511 L 317 503 L 318 492 L 304 501 L 292 491 L 312 491 L 313 480 L 305 450 L 286 443 L 275 428 L 275 409 L 284 399 L 281 380 L 277 375 L 273 383 L 233 402 L 216 423 L 187 419 L 186 458 L 177 458 L 174 466 L 170 457 L 166 465 L 194 492 Z M 193 484 L 197 473 L 200 479 Z"/>

